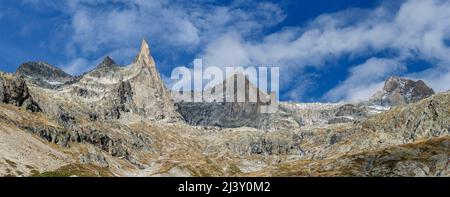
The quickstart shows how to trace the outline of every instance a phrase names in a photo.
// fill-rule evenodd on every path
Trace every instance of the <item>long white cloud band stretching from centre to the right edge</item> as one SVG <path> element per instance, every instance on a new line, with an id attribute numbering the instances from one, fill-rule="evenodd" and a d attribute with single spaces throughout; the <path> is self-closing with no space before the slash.
<path id="1" fill-rule="evenodd" d="M 394 10 L 394 14 L 384 7 L 325 14 L 304 29 L 290 28 L 275 32 L 260 42 L 244 40 L 240 45 L 247 50 L 248 57 L 242 59 L 252 63 L 292 64 L 297 67 L 321 66 L 324 61 L 344 54 L 363 55 L 386 49 L 397 50 L 405 56 L 449 59 L 446 55 L 449 49 L 442 42 L 444 36 L 450 33 L 448 10 L 448 1 L 424 0 L 408 1 L 398 11 Z M 235 38 L 236 42 L 241 42 L 239 37 Z M 211 45 L 220 47 L 217 43 Z M 228 52 L 231 53 L 231 50 Z M 218 56 L 211 51 L 205 54 L 206 59 Z M 213 57 L 208 54 L 213 54 Z"/>

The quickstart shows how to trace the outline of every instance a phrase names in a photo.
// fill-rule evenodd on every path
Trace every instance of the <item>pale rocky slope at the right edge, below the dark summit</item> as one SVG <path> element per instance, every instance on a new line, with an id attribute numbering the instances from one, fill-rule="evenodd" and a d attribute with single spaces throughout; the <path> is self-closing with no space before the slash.
<path id="1" fill-rule="evenodd" d="M 409 143 L 418 139 L 450 134 L 450 93 L 393 108 L 363 123 L 364 130 L 384 132 L 382 143 Z M 394 140 L 395 139 L 395 140 Z"/>

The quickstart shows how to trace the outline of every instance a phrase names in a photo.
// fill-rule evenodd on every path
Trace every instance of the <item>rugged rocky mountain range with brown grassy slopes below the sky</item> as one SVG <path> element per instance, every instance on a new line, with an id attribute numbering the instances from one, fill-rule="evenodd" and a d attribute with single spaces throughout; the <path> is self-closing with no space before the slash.
<path id="1" fill-rule="evenodd" d="M 423 81 L 260 106 L 175 102 L 145 40 L 130 65 L 105 57 L 80 76 L 27 62 L 0 72 L 0 175 L 450 176 L 450 92 Z"/>

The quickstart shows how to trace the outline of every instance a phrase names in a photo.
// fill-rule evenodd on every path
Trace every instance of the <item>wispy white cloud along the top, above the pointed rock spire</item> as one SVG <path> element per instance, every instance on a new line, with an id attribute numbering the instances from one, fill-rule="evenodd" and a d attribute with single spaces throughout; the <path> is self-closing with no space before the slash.
<path id="1" fill-rule="evenodd" d="M 259 10 L 247 12 L 240 1 L 218 6 L 208 1 L 168 2 L 164 0 L 68 1 L 73 28 L 72 44 L 85 52 L 102 47 L 134 45 L 148 38 L 166 50 L 195 50 L 225 31 L 248 35 L 277 24 L 284 16 L 278 6 L 255 4 Z M 102 6 L 92 6 L 103 4 Z"/>

